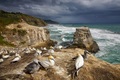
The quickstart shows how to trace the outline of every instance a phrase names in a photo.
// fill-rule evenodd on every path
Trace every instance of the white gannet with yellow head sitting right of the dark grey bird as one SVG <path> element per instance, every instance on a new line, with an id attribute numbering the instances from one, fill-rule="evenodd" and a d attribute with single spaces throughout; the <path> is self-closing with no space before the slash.
<path id="1" fill-rule="evenodd" d="M 53 56 L 49 56 L 48 60 L 45 61 L 39 61 L 39 64 L 41 65 L 41 67 L 43 67 L 44 69 L 48 69 L 49 67 L 52 67 L 55 65 L 55 59 Z"/>

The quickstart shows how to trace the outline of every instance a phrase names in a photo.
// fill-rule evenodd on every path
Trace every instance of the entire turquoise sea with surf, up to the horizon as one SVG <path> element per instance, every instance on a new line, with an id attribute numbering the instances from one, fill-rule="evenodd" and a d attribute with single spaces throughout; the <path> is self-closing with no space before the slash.
<path id="1" fill-rule="evenodd" d="M 120 63 L 120 24 L 49 24 L 52 40 L 63 42 L 73 41 L 73 34 L 77 27 L 90 28 L 94 40 L 98 43 L 100 51 L 96 57 L 112 64 Z"/>

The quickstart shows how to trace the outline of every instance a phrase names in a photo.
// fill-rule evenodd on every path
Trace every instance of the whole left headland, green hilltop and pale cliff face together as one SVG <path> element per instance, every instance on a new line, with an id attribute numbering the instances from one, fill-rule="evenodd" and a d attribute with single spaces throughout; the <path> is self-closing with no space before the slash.
<path id="1" fill-rule="evenodd" d="M 0 45 L 36 45 L 49 41 L 47 23 L 22 13 L 0 10 Z"/>

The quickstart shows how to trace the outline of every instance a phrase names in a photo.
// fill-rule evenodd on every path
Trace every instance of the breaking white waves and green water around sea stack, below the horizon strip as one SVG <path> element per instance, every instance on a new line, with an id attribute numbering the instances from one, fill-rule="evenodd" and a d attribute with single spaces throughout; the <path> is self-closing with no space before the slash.
<path id="1" fill-rule="evenodd" d="M 50 30 L 51 38 L 61 43 L 72 41 L 77 27 L 50 24 L 47 28 Z M 90 31 L 100 47 L 100 51 L 95 56 L 111 63 L 120 63 L 120 34 L 97 27 L 90 28 Z"/>

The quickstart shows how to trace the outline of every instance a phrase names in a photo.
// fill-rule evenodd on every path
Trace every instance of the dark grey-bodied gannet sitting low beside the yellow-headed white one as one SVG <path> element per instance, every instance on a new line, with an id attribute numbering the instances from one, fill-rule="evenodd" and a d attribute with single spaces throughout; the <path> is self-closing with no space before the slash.
<path id="1" fill-rule="evenodd" d="M 32 63 L 28 64 L 23 71 L 26 74 L 33 74 L 34 72 L 38 71 L 39 69 L 40 69 L 40 65 L 38 63 L 38 60 L 34 59 L 34 61 Z"/>

